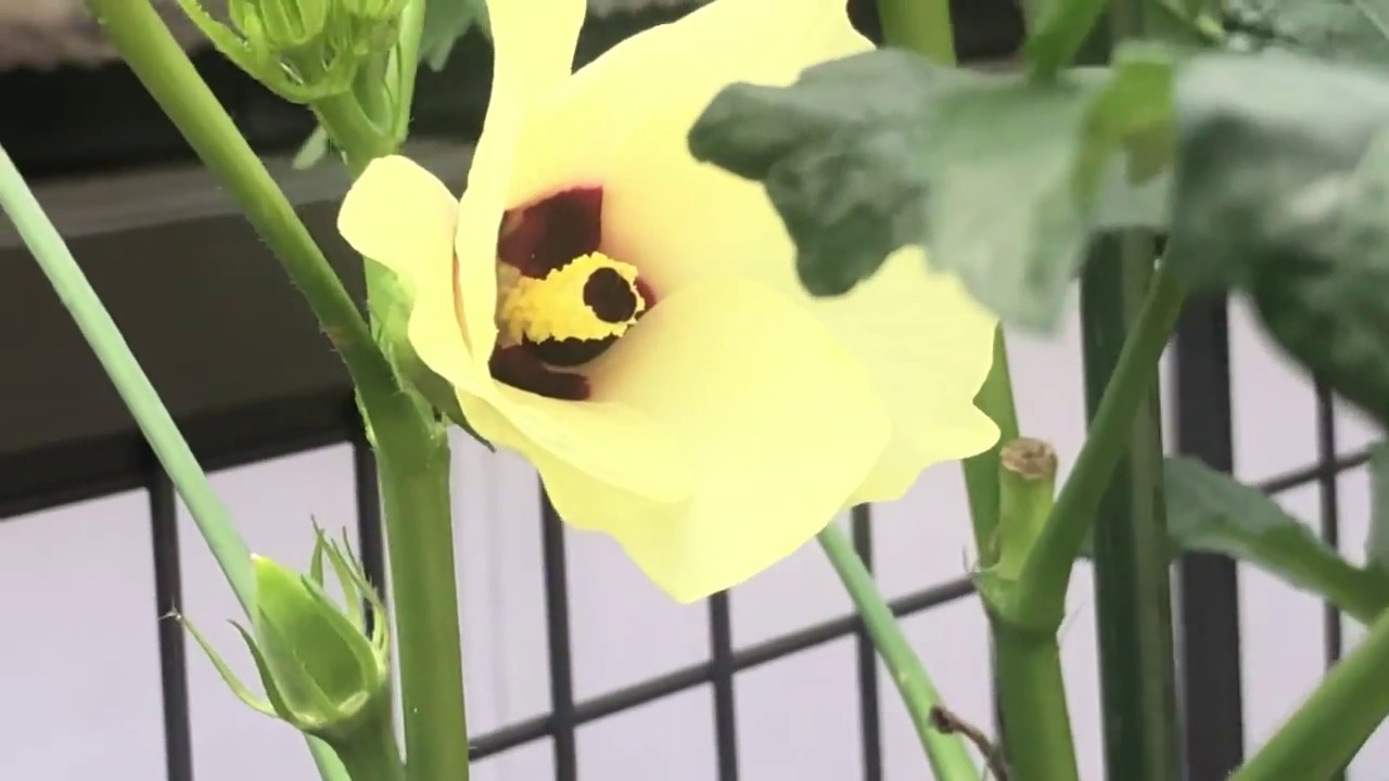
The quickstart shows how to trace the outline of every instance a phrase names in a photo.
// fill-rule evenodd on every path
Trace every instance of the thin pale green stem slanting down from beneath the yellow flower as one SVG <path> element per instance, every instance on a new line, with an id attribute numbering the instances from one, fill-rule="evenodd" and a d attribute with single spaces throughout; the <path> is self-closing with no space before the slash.
<path id="1" fill-rule="evenodd" d="M 931 771 L 938 781 L 978 781 L 979 770 L 970 759 L 970 750 L 958 735 L 946 735 L 932 725 L 931 710 L 940 705 L 940 693 L 926 675 L 921 659 L 911 650 L 911 643 L 901 634 L 897 618 L 878 591 L 872 574 L 864 567 L 863 559 L 853 543 L 835 524 L 820 532 L 820 546 L 824 548 L 845 589 L 854 600 L 854 607 L 864 620 L 868 636 L 872 638 L 878 656 L 892 673 L 901 700 L 907 706 L 911 723 L 917 728 L 921 748 L 926 752 Z"/>

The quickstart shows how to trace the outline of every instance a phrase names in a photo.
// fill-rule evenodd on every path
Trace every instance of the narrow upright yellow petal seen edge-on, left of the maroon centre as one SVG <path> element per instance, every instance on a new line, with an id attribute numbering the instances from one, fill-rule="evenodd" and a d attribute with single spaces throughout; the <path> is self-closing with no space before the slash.
<path id="1" fill-rule="evenodd" d="M 458 211 L 458 285 L 464 335 L 485 365 L 496 345 L 497 228 L 525 115 L 558 90 L 574 67 L 585 0 L 489 0 L 492 99 Z"/>

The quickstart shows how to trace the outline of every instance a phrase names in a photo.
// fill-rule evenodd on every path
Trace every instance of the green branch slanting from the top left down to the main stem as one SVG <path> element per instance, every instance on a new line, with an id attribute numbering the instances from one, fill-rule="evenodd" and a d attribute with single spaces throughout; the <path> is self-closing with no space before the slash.
<path id="1" fill-rule="evenodd" d="M 89 3 L 121 57 L 275 250 L 342 353 L 364 403 L 393 403 L 394 375 L 347 289 L 150 0 Z"/>

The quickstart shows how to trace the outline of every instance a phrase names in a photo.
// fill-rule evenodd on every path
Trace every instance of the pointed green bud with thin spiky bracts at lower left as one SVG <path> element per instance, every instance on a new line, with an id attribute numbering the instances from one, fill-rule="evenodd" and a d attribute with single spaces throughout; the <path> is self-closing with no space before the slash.
<path id="1" fill-rule="evenodd" d="M 332 567 L 343 606 L 324 591 L 324 560 Z M 390 638 L 385 607 L 346 542 L 318 531 L 308 575 L 253 556 L 256 603 L 251 628 L 240 625 L 265 698 L 251 693 L 207 641 L 183 621 L 232 691 L 249 706 L 317 735 L 331 745 L 379 728 L 390 713 Z M 375 618 L 367 630 L 363 599 Z M 389 718 L 385 718 L 389 723 Z"/>

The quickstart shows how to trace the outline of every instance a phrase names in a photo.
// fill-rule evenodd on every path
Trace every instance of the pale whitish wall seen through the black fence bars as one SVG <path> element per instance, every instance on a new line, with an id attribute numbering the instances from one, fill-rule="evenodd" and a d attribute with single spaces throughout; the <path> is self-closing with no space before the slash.
<path id="1" fill-rule="evenodd" d="M 1313 392 L 1232 314 L 1236 468 L 1268 478 L 1314 459 Z M 1053 441 L 1063 459 L 1082 438 L 1076 329 L 1054 340 L 1013 340 L 1026 434 Z M 1165 410 L 1171 413 L 1171 404 Z M 1342 416 L 1342 452 L 1371 429 Z M 549 707 L 536 481 L 515 457 L 463 443 L 456 459 L 460 595 L 472 728 L 485 732 Z M 244 535 L 283 561 L 308 554 L 310 516 L 353 523 L 351 459 L 326 447 L 215 475 Z M 1363 470 L 1342 479 L 1343 539 L 1360 554 L 1368 523 Z M 1317 488 L 1285 504 L 1317 521 Z M 143 493 L 126 493 L 0 523 L 0 778 L 163 780 L 163 723 L 150 531 Z M 236 606 L 183 518 L 188 613 L 243 674 L 249 664 L 222 620 Z M 901 595 L 960 577 L 971 559 L 958 468 L 932 470 L 900 503 L 876 511 L 883 588 Z M 703 606 L 678 607 L 607 539 L 568 534 L 576 696 L 603 693 L 706 659 Z M 1245 703 L 1250 746 L 1314 685 L 1322 664 L 1321 609 L 1247 567 L 1240 574 Z M 1101 778 L 1093 596 L 1081 567 L 1063 635 L 1071 710 L 1086 780 Z M 746 646 L 849 611 L 815 546 L 735 589 L 735 645 Z M 906 631 L 951 707 L 988 723 L 985 621 L 971 598 L 915 616 Z M 308 780 L 296 734 L 240 706 L 189 648 L 193 750 L 199 781 Z M 843 781 L 860 774 L 853 639 L 740 673 L 736 716 L 746 781 Z M 883 681 L 883 756 L 889 781 L 926 778 L 903 707 Z M 708 781 L 714 770 L 713 696 L 706 688 L 632 710 L 578 734 L 579 777 Z M 1372 742 L 1353 781 L 1379 781 L 1389 738 Z M 488 759 L 476 781 L 544 781 L 546 742 Z"/>

